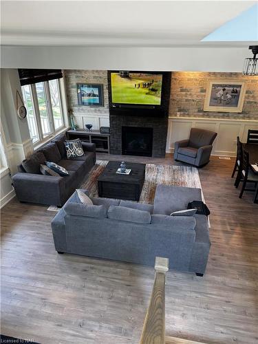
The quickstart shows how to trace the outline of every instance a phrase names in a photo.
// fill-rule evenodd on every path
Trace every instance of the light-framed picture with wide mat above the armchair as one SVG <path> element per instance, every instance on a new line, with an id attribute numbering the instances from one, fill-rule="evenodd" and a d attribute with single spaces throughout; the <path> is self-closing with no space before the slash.
<path id="1" fill-rule="evenodd" d="M 208 80 L 204 111 L 241 112 L 246 80 Z"/>

